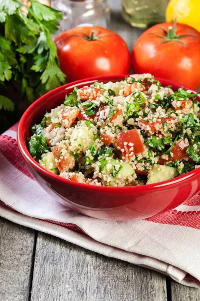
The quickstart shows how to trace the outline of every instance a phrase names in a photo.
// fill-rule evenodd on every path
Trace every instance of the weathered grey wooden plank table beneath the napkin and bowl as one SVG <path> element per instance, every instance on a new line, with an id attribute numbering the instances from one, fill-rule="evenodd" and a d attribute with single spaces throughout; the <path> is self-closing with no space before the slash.
<path id="1" fill-rule="evenodd" d="M 109 0 L 111 29 L 131 50 L 141 34 Z M 0 218 L 0 301 L 197 301 L 200 291 Z"/>

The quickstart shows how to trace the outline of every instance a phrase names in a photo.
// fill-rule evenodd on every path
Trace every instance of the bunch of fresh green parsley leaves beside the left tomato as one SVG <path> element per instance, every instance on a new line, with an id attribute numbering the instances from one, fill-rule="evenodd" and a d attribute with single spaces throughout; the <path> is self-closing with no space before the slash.
<path id="1" fill-rule="evenodd" d="M 26 17 L 22 7 L 27 9 Z M 30 0 L 30 8 L 17 0 L 0 0 L 1 118 L 18 105 L 18 100 L 7 97 L 6 88 L 19 86 L 20 99 L 33 101 L 35 95 L 65 82 L 51 39 L 61 18 L 59 11 L 33 0 Z"/>

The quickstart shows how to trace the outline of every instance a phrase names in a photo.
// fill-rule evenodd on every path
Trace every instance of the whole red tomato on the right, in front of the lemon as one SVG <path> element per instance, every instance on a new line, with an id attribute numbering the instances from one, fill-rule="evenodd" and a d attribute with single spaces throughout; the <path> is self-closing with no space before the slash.
<path id="1" fill-rule="evenodd" d="M 180 37 L 180 42 L 165 42 L 163 30 L 169 32 L 169 26 L 173 23 L 155 25 L 137 39 L 132 50 L 133 72 L 151 73 L 197 89 L 200 85 L 200 68 L 197 67 L 200 65 L 200 33 L 188 25 L 177 23 L 176 36 L 189 36 Z"/>

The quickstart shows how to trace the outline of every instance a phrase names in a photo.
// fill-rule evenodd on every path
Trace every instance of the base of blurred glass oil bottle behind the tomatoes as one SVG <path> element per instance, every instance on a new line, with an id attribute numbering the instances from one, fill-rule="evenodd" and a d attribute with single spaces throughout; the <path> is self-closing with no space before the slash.
<path id="1" fill-rule="evenodd" d="M 134 27 L 146 29 L 165 21 L 169 0 L 121 0 L 125 21 Z"/>

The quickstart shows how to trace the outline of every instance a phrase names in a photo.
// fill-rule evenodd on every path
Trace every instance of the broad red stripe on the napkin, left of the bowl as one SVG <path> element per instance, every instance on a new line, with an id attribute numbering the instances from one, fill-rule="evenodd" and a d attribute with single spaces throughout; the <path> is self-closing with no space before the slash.
<path id="1" fill-rule="evenodd" d="M 21 173 L 34 180 L 17 147 L 16 139 L 0 135 L 0 153 Z M 35 180 L 34 180 L 35 181 Z"/>

